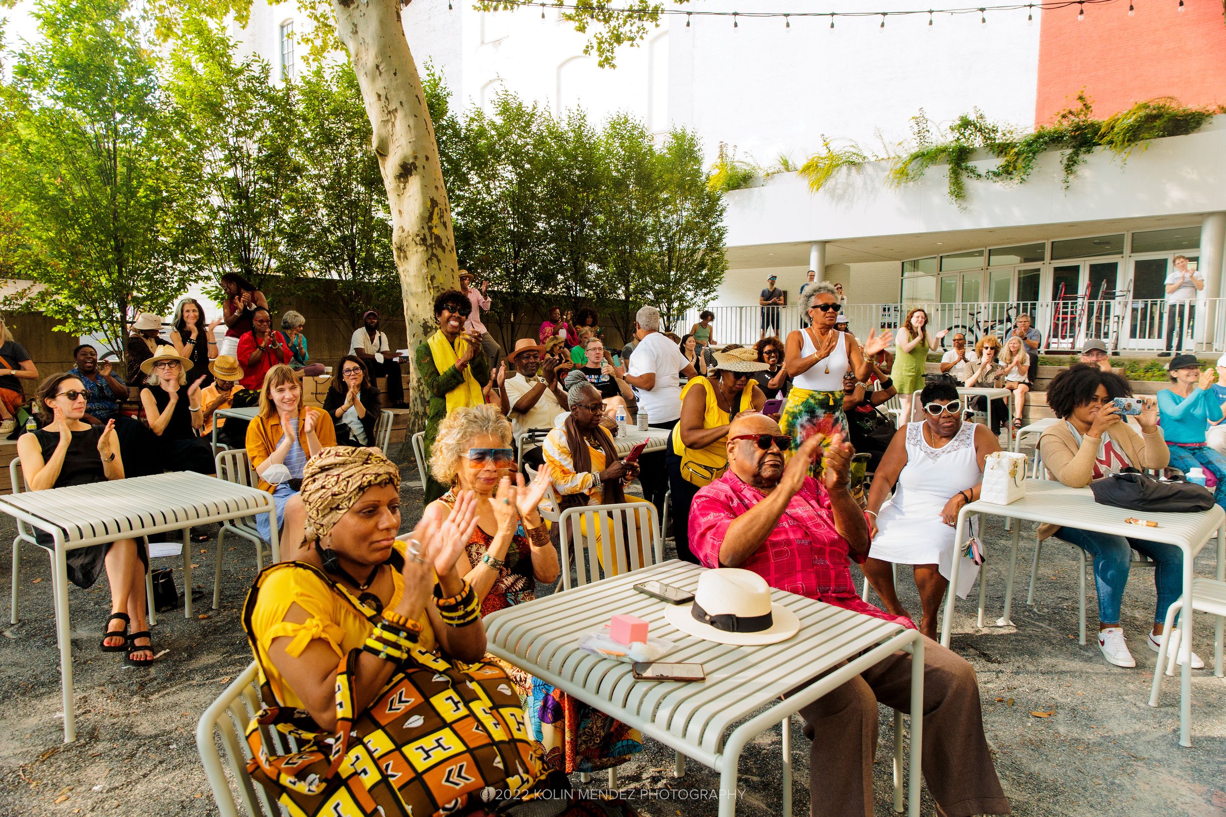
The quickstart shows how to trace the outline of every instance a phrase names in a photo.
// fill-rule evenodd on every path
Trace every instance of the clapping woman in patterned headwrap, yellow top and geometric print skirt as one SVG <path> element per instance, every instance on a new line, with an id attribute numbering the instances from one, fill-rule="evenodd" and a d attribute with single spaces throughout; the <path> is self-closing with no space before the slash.
<path id="1" fill-rule="evenodd" d="M 504 813 L 532 794 L 571 802 L 565 777 L 525 735 L 505 672 L 483 663 L 477 594 L 456 570 L 476 499 L 462 494 L 445 522 L 398 540 L 400 470 L 369 448 L 324 451 L 302 497 L 306 548 L 256 577 L 243 615 L 260 668 L 256 719 L 295 730 L 284 755 L 249 730 L 251 777 L 270 799 L 311 817 L 340 813 L 338 804 L 390 817 L 440 813 L 440 804 Z M 379 764 L 365 748 L 375 744 Z M 584 804 L 566 813 L 609 812 Z"/>

